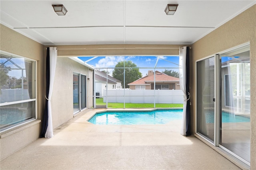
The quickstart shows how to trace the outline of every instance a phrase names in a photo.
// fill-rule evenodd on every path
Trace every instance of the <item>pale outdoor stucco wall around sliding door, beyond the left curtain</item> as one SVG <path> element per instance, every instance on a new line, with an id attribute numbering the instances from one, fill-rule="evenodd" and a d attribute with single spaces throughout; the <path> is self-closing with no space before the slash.
<path id="1" fill-rule="evenodd" d="M 92 70 L 88 70 L 88 67 L 77 63 L 68 57 L 58 57 L 51 98 L 53 128 L 62 125 L 74 116 L 73 73 L 86 75 L 86 106 L 87 108 L 92 107 Z M 90 78 L 90 81 L 87 78 Z M 88 97 L 88 95 L 90 95 L 90 97 Z"/>

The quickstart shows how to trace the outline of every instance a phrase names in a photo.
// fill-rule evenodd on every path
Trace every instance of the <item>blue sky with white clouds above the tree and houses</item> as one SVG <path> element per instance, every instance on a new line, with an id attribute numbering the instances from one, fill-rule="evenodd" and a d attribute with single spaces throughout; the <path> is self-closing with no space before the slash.
<path id="1" fill-rule="evenodd" d="M 87 61 L 93 57 L 78 57 L 82 61 Z M 142 76 L 146 76 L 148 70 L 153 70 L 156 65 L 158 57 L 156 56 L 106 56 L 106 57 L 97 57 L 86 62 L 89 65 L 92 65 L 94 68 L 101 68 L 100 70 L 106 70 L 102 68 L 108 68 L 110 76 L 112 76 L 112 71 L 116 64 L 120 61 L 132 61 L 137 67 L 141 67 L 140 72 Z M 164 71 L 165 69 L 172 69 L 178 71 L 179 68 L 179 57 L 178 56 L 159 56 L 156 71 Z"/>

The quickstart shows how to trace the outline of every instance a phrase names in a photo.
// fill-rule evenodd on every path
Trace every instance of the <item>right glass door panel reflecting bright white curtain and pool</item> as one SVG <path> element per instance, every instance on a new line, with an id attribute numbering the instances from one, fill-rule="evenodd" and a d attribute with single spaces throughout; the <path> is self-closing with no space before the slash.
<path id="1" fill-rule="evenodd" d="M 249 47 L 220 55 L 221 111 L 219 143 L 250 162 Z"/>

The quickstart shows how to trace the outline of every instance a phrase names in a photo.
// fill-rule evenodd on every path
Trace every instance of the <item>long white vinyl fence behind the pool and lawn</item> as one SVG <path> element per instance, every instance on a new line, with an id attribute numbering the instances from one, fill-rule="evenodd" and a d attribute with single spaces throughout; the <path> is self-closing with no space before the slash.
<path id="1" fill-rule="evenodd" d="M 181 90 L 130 90 L 108 89 L 108 103 L 181 103 L 184 97 Z M 125 95 L 125 101 L 124 101 Z M 106 102 L 106 89 L 103 91 Z"/>

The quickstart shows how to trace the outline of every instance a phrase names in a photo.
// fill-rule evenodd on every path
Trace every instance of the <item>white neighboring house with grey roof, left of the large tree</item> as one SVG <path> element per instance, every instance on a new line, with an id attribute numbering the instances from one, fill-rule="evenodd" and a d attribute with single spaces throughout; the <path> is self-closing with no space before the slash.
<path id="1" fill-rule="evenodd" d="M 107 75 L 101 71 L 95 71 L 95 92 L 96 96 L 102 96 L 103 90 L 107 88 L 108 79 L 108 89 L 122 89 L 122 81 Z"/>

